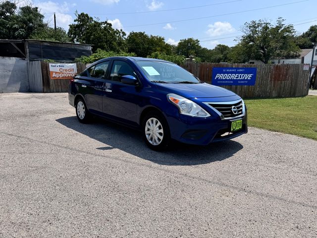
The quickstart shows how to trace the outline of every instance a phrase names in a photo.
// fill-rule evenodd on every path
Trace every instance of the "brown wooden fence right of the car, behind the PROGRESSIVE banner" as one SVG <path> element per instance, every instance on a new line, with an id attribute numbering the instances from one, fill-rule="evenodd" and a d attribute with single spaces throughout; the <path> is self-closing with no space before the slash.
<path id="1" fill-rule="evenodd" d="M 228 64 L 186 62 L 183 68 L 211 83 L 213 67 L 256 67 L 254 86 L 222 86 L 243 98 L 302 97 L 308 94 L 309 70 L 303 64 Z"/>

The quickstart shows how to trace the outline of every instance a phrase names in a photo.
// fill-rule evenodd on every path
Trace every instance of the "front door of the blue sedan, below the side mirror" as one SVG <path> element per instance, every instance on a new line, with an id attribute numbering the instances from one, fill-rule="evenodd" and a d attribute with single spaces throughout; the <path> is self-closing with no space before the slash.
<path id="1" fill-rule="evenodd" d="M 106 94 L 103 97 L 103 112 L 112 119 L 137 125 L 137 104 L 139 87 L 121 82 L 123 75 L 138 78 L 137 70 L 125 60 L 113 60 L 106 81 Z"/>

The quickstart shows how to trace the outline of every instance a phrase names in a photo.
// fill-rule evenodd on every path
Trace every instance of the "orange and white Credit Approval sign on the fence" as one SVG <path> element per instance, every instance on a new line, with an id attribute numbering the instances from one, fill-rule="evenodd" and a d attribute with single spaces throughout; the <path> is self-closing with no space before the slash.
<path id="1" fill-rule="evenodd" d="M 72 79 L 77 74 L 76 63 L 49 63 L 51 79 Z"/>

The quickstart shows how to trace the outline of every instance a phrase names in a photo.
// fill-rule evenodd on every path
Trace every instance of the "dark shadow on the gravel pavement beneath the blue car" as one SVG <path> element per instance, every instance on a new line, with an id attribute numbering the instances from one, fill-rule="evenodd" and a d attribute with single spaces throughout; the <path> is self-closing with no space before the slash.
<path id="1" fill-rule="evenodd" d="M 236 141 L 212 143 L 208 146 L 195 146 L 172 141 L 166 151 L 149 149 L 143 141 L 141 132 L 100 118 L 92 123 L 79 123 L 76 117 L 56 119 L 60 124 L 89 136 L 105 144 L 97 150 L 118 148 L 129 154 L 160 165 L 200 165 L 222 161 L 241 150 L 243 146 Z"/>

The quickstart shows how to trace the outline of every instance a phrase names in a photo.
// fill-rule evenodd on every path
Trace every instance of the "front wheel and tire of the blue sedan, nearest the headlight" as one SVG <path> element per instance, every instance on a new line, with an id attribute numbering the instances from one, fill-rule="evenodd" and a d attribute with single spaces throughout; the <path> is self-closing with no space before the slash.
<path id="1" fill-rule="evenodd" d="M 167 149 L 170 131 L 166 119 L 158 112 L 149 112 L 142 123 L 142 133 L 147 146 L 152 150 Z"/>

